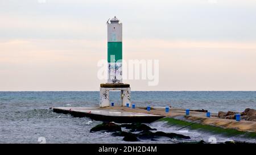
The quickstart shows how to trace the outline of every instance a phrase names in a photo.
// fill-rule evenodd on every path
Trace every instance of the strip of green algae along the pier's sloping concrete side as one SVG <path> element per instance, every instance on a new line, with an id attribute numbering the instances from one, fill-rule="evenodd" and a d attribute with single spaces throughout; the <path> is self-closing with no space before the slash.
<path id="1" fill-rule="evenodd" d="M 255 132 L 239 131 L 237 129 L 222 128 L 222 127 L 216 127 L 213 125 L 200 124 L 200 120 L 196 122 L 187 122 L 185 120 L 180 120 L 175 118 L 162 118 L 162 119 L 159 119 L 159 121 L 166 121 L 170 125 L 177 125 L 177 126 L 180 126 L 181 128 L 186 127 L 192 130 L 197 129 L 200 131 L 212 132 L 215 134 L 220 134 L 228 137 L 242 136 L 242 137 L 256 138 Z"/>

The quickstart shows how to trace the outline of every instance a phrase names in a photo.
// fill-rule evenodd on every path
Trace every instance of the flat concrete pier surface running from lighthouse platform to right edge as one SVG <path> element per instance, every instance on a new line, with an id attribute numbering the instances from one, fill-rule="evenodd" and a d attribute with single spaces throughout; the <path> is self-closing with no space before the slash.
<path id="1" fill-rule="evenodd" d="M 116 123 L 151 123 L 155 120 L 170 117 L 177 118 L 181 116 L 185 121 L 198 122 L 200 124 L 214 125 L 216 127 L 232 128 L 239 131 L 256 132 L 256 122 L 241 120 L 237 122 L 233 119 L 221 119 L 217 114 L 211 114 L 206 117 L 205 112 L 191 110 L 189 115 L 185 115 L 185 110 L 181 108 L 170 108 L 170 112 L 165 112 L 165 107 L 151 107 L 150 111 L 146 107 L 53 107 L 54 112 L 71 114 L 77 117 L 89 117 L 94 120 L 116 122 Z"/>

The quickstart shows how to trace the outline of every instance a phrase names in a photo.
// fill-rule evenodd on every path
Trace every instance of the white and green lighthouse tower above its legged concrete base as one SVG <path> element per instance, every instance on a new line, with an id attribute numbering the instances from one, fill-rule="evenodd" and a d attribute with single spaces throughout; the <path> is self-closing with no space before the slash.
<path id="1" fill-rule="evenodd" d="M 108 24 L 108 83 L 122 83 L 122 23 L 116 16 Z"/>

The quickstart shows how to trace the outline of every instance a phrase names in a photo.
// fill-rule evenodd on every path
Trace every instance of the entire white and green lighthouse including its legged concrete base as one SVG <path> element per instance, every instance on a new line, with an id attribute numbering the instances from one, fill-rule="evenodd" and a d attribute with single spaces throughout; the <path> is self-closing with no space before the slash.
<path id="1" fill-rule="evenodd" d="M 108 107 L 109 91 L 121 91 L 121 106 L 130 106 L 131 88 L 122 82 L 122 23 L 114 18 L 108 20 L 108 82 L 100 85 L 100 107 Z"/>

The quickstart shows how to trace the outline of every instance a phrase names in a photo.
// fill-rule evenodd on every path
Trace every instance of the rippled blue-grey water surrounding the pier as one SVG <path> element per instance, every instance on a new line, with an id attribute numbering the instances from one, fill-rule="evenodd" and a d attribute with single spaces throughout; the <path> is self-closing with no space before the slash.
<path id="1" fill-rule="evenodd" d="M 110 92 L 110 102 L 121 104 L 119 92 Z M 98 106 L 98 91 L 46 91 L 46 92 L 0 92 L 0 143 L 126 143 L 122 137 L 110 133 L 90 133 L 90 128 L 101 123 L 88 118 L 73 118 L 56 114 L 49 107 Z M 172 106 L 218 111 L 243 111 L 256 108 L 255 91 L 133 91 L 132 102 L 137 106 Z M 176 132 L 192 137 L 192 140 L 209 139 L 209 133 L 177 131 L 164 122 L 149 124 L 158 131 Z M 214 135 L 219 141 L 228 137 Z M 244 140 L 244 139 L 240 139 Z M 247 140 L 254 142 L 255 140 Z M 144 140 L 138 143 L 177 143 L 166 138 L 158 141 Z"/>

